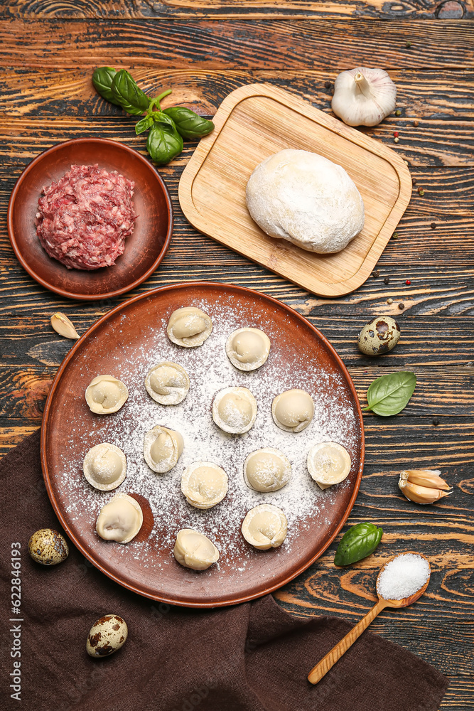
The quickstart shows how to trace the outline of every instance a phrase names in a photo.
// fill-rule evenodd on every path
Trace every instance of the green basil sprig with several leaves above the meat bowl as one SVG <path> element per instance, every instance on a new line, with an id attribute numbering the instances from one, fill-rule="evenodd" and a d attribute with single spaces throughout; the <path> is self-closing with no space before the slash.
<path id="1" fill-rule="evenodd" d="M 161 111 L 160 102 L 171 94 L 166 90 L 155 99 L 142 91 L 134 78 L 122 69 L 119 72 L 112 67 L 99 67 L 92 75 L 92 83 L 99 94 L 126 112 L 139 116 L 146 112 L 136 123 L 137 135 L 149 131 L 146 149 L 151 159 L 164 166 L 176 158 L 183 150 L 183 138 L 196 139 L 207 136 L 214 124 L 184 106 L 173 106 Z"/>

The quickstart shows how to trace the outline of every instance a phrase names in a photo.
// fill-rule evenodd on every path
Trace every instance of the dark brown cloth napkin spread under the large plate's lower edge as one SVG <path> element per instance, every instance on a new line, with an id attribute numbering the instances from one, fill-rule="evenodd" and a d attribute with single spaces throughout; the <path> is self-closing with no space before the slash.
<path id="1" fill-rule="evenodd" d="M 34 563 L 31 533 L 59 528 L 41 476 L 39 441 L 36 432 L 0 462 L 2 710 L 438 709 L 446 678 L 370 632 L 318 685 L 309 684 L 310 668 L 351 627 L 341 619 L 296 619 L 270 595 L 216 610 L 171 607 L 112 582 L 73 545 L 68 560 L 56 567 Z M 21 544 L 21 615 L 11 613 L 9 604 L 15 542 Z M 107 613 L 125 619 L 129 638 L 111 657 L 92 659 L 85 651 L 87 633 Z M 10 653 L 18 646 L 15 638 L 21 657 Z M 10 697 L 14 661 L 21 662 L 21 703 Z"/>

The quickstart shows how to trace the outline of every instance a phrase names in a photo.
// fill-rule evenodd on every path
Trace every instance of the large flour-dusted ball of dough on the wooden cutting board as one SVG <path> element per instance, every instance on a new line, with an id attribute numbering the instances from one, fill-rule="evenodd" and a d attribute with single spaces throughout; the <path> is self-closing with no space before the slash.
<path id="1" fill-rule="evenodd" d="M 247 208 L 267 235 L 309 252 L 340 252 L 364 226 L 364 203 L 341 167 L 310 151 L 266 158 L 247 183 Z"/>

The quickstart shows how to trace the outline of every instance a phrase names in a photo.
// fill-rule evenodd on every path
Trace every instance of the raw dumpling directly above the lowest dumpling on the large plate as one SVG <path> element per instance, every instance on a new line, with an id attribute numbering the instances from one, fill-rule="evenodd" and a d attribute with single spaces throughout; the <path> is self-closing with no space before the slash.
<path id="1" fill-rule="evenodd" d="M 195 508 L 212 508 L 227 493 L 227 474 L 212 461 L 195 461 L 181 476 L 181 491 Z"/>

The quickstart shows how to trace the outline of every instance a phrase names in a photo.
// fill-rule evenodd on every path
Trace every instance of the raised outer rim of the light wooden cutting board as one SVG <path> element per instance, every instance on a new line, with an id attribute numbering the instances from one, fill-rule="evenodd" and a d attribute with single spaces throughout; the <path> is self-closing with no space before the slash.
<path id="1" fill-rule="evenodd" d="M 307 278 L 305 277 L 301 279 L 294 277 L 294 275 L 289 273 L 287 269 L 279 268 L 280 265 L 275 263 L 274 260 L 268 260 L 266 262 L 265 260 L 254 259 L 254 257 L 250 257 L 245 251 L 244 240 L 241 242 L 242 249 L 240 249 L 234 245 L 228 245 L 225 239 L 220 238 L 220 235 L 216 233 L 215 225 L 208 222 L 205 215 L 200 213 L 195 204 L 193 198 L 193 183 L 196 176 L 198 176 L 205 159 L 210 153 L 212 146 L 214 146 L 215 142 L 219 139 L 220 132 L 225 126 L 227 119 L 229 119 L 232 110 L 235 109 L 240 102 L 243 102 L 250 97 L 259 96 L 269 97 L 277 102 L 284 103 L 284 105 L 289 106 L 294 111 L 320 124 L 325 129 L 329 129 L 331 132 L 338 134 L 338 136 L 343 139 L 350 141 L 353 144 L 357 144 L 362 147 L 362 149 L 381 157 L 386 160 L 397 173 L 399 180 L 398 198 L 395 201 L 392 210 L 390 210 L 387 219 L 380 228 L 377 237 L 375 237 L 370 250 L 367 252 L 365 260 L 362 262 L 357 272 L 348 277 L 348 279 L 343 279 L 339 282 L 322 282 L 320 279 L 312 276 L 311 274 L 308 274 Z M 406 166 L 402 158 L 397 155 L 395 151 L 387 148 L 387 146 L 384 146 L 378 141 L 365 136 L 365 134 L 362 134 L 357 129 L 347 126 L 342 121 L 333 118 L 320 109 L 316 109 L 316 107 L 313 107 L 305 100 L 279 89 L 278 87 L 265 83 L 245 85 L 230 92 L 230 94 L 227 95 L 227 97 L 225 97 L 222 101 L 212 120 L 215 124 L 214 131 L 200 140 L 200 143 L 195 149 L 193 156 L 191 156 L 188 165 L 185 166 L 179 182 L 178 196 L 181 209 L 191 225 L 208 237 L 211 237 L 213 240 L 220 242 L 220 244 L 239 252 L 239 254 L 247 257 L 247 259 L 251 259 L 254 262 L 262 264 L 262 266 L 270 269 L 272 272 L 279 274 L 279 276 L 284 277 L 285 279 L 289 279 L 289 281 L 297 284 L 303 289 L 306 289 L 308 292 L 316 294 L 317 296 L 344 296 L 345 294 L 350 294 L 350 292 L 358 289 L 370 276 L 375 264 L 377 264 L 380 255 L 382 255 L 382 252 L 387 246 L 390 237 L 397 228 L 399 220 L 402 218 L 402 215 L 409 204 L 412 189 L 411 176 L 408 166 Z M 263 232 L 262 235 L 264 235 Z M 266 235 L 264 235 L 264 237 L 266 237 Z M 275 240 L 275 242 L 281 241 L 284 240 Z M 299 250 L 299 247 L 295 247 L 295 249 Z M 303 250 L 301 251 L 303 252 Z M 313 254 L 314 253 L 312 253 L 312 255 Z M 316 259 L 318 259 L 318 256 L 319 255 L 314 254 Z"/>

